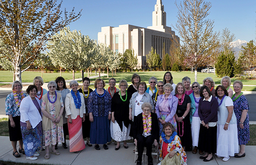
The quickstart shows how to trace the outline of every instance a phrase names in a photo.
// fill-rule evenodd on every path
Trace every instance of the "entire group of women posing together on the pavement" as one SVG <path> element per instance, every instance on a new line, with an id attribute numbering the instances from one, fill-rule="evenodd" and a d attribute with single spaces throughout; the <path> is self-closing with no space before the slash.
<path id="1" fill-rule="evenodd" d="M 153 164 L 152 144 L 160 144 L 161 165 L 187 164 L 185 151 L 196 154 L 199 150 L 203 155 L 200 159 L 206 162 L 213 159 L 213 153 L 224 157 L 223 161 L 228 161 L 229 156 L 245 156 L 245 145 L 249 141 L 249 105 L 241 92 L 242 82 L 233 83 L 233 94 L 227 76 L 221 79 L 222 85 L 216 90 L 210 77 L 203 80 L 202 87 L 198 82 L 190 85 L 189 77 L 175 85 L 170 72 L 164 74 L 163 81 L 149 78 L 149 87 L 135 73 L 130 86 L 126 80 L 120 80 L 120 90 L 115 87 L 114 78 L 109 79 L 108 90 L 104 89 L 104 80 L 95 80 L 94 91 L 89 88 L 89 78 L 83 79 L 79 90 L 78 82 L 71 81 L 71 92 L 62 77 L 48 83 L 48 92 L 41 87 L 41 77 L 33 82 L 26 90 L 26 97 L 21 83 L 14 81 L 13 92 L 6 99 L 15 157 L 23 153 L 35 160 L 43 146 L 45 159 L 50 158 L 50 153 L 59 155 L 58 144 L 68 148 L 68 134 L 69 150 L 74 153 L 85 148 L 85 138 L 86 144 L 95 144 L 96 150 L 100 150 L 99 144 L 108 149 L 111 138 L 116 141 L 115 150 L 119 150 L 121 141 L 123 147 L 128 148 L 126 141 L 134 139 L 137 165 L 142 164 L 144 147 L 149 165 Z"/>

